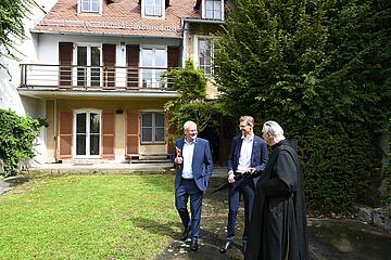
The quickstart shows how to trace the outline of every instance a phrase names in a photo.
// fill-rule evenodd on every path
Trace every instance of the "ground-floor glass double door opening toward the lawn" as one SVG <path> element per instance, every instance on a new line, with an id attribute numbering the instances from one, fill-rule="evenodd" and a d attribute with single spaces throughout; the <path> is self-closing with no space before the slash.
<path id="1" fill-rule="evenodd" d="M 75 113 L 75 155 L 76 158 L 99 158 L 101 136 L 100 112 Z"/>

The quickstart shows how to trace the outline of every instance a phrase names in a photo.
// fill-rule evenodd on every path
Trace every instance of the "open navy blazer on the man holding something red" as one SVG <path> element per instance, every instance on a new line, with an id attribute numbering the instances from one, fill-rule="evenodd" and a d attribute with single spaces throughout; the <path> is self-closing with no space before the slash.
<path id="1" fill-rule="evenodd" d="M 197 138 L 194 141 L 194 152 L 192 158 L 192 174 L 194 177 L 194 181 L 197 186 L 201 191 L 205 191 L 209 184 L 209 180 L 212 177 L 213 172 L 213 159 L 211 147 L 209 141 L 205 139 Z M 178 139 L 175 143 L 175 146 L 178 147 L 180 151 L 184 150 L 185 138 Z M 174 154 L 174 158 L 176 157 L 176 150 Z M 180 178 L 184 170 L 184 165 L 179 165 L 175 177 L 175 188 L 177 188 L 180 184 Z"/>

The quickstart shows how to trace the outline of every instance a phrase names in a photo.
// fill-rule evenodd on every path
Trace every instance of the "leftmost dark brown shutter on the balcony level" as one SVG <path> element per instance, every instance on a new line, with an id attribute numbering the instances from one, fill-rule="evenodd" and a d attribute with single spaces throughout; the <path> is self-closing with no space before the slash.
<path id="1" fill-rule="evenodd" d="M 60 64 L 60 82 L 61 87 L 68 88 L 72 86 L 72 56 L 73 43 L 59 42 L 59 64 Z"/>

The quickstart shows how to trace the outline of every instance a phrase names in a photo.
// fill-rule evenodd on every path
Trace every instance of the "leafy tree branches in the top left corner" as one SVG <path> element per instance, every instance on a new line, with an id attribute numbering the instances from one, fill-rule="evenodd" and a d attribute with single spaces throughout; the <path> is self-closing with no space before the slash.
<path id="1" fill-rule="evenodd" d="M 34 0 L 0 1 L 0 56 L 17 60 L 15 53 L 20 51 L 15 48 L 15 40 L 26 38 L 23 20 L 34 4 Z M 3 67 L 2 64 L 0 66 Z"/>

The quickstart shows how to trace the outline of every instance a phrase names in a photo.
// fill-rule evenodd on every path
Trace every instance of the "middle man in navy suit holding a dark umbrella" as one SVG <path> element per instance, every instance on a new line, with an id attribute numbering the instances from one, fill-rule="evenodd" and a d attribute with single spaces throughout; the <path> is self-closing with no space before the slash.
<path id="1" fill-rule="evenodd" d="M 234 138 L 228 157 L 228 182 L 230 183 L 228 190 L 229 212 L 227 237 L 225 244 L 220 247 L 220 252 L 226 252 L 234 243 L 240 195 L 244 199 L 242 243 L 243 251 L 245 251 L 255 185 L 268 160 L 266 142 L 254 134 L 253 128 L 253 117 L 242 116 L 239 118 L 239 129 L 242 135 Z"/>

